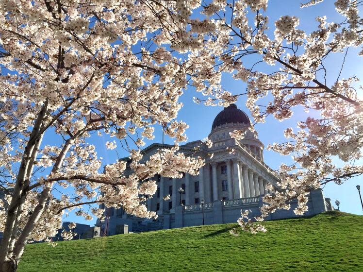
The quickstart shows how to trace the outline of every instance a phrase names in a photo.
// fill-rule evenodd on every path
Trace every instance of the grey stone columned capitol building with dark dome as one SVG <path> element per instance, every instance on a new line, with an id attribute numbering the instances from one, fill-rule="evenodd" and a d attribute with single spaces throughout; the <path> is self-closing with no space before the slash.
<path id="1" fill-rule="evenodd" d="M 157 212 L 156 220 L 136 218 L 122 208 L 110 208 L 106 209 L 106 220 L 98 221 L 96 226 L 101 227 L 101 233 L 114 235 L 124 233 L 125 225 L 129 231 L 141 232 L 236 222 L 241 209 L 251 210 L 251 216 L 259 215 L 262 196 L 268 192 L 267 184 L 275 185 L 279 179 L 264 162 L 264 144 L 257 132 L 247 130 L 242 140 L 231 138 L 233 130 L 246 130 L 250 126 L 247 114 L 235 104 L 224 108 L 215 117 L 208 136 L 213 142 L 211 148 L 202 145 L 201 140 L 180 146 L 184 153 L 193 153 L 196 147 L 201 147 L 198 155 L 206 164 L 200 168 L 199 175 L 155 176 L 157 192 L 148 199 L 147 206 Z M 153 143 L 143 153 L 146 158 L 158 149 L 170 147 L 172 145 Z M 229 153 L 228 147 L 235 152 Z M 170 199 L 165 201 L 163 198 L 168 194 Z M 296 206 L 297 202 L 293 201 L 290 210 L 278 210 L 266 220 L 297 217 L 293 212 Z M 324 197 L 321 189 L 311 192 L 308 206 L 305 216 L 332 209 L 330 199 Z"/>

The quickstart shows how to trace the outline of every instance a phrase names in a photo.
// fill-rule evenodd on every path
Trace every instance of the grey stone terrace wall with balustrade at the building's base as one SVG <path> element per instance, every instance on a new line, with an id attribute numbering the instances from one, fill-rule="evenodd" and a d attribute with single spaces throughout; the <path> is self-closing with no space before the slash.
<path id="1" fill-rule="evenodd" d="M 164 213 L 156 221 L 135 217 L 123 218 L 113 216 L 110 217 L 108 235 L 118 234 L 116 228 L 120 224 L 128 224 L 129 231 L 133 232 L 202 225 L 203 213 L 204 224 L 206 225 L 233 223 L 237 222 L 241 210 L 251 210 L 251 218 L 260 215 L 260 207 L 263 205 L 262 197 L 260 195 L 258 197 L 227 201 L 216 200 L 204 204 L 178 205 L 175 207 L 173 213 Z M 303 216 L 297 216 L 294 213 L 294 209 L 297 207 L 297 201 L 295 200 L 291 202 L 291 208 L 289 210 L 278 210 L 270 214 L 266 220 L 313 216 L 332 209 L 331 206 L 326 205 L 326 200 L 321 189 L 311 192 L 308 206 L 309 210 Z"/>

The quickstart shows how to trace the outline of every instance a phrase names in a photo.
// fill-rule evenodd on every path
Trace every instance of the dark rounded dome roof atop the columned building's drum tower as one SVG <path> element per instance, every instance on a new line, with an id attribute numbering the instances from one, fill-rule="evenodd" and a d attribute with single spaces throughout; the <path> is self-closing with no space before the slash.
<path id="1" fill-rule="evenodd" d="M 251 125 L 251 122 L 247 114 L 244 113 L 242 110 L 238 109 L 236 104 L 231 104 L 228 107 L 224 108 L 214 118 L 212 124 L 212 131 L 220 125 L 231 124 L 231 123 Z"/>

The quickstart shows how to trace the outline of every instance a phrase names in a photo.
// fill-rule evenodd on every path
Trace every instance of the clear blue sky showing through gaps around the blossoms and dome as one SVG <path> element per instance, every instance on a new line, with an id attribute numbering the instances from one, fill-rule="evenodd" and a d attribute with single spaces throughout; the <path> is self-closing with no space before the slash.
<path id="1" fill-rule="evenodd" d="M 280 16 L 283 15 L 294 15 L 300 18 L 299 29 L 310 32 L 316 29 L 318 23 L 315 20 L 317 16 L 326 15 L 327 21 L 341 21 L 341 17 L 335 10 L 332 0 L 326 0 L 322 4 L 318 4 L 309 8 L 300 9 L 299 0 L 270 0 L 269 8 L 265 15 L 270 17 L 270 24 L 276 21 Z M 194 15 L 198 17 L 197 15 Z M 347 78 L 356 75 L 358 78 L 363 78 L 362 70 L 362 58 L 357 56 L 358 49 L 349 49 L 347 55 L 347 62 L 345 64 L 345 70 L 342 74 L 343 78 Z M 339 73 L 340 65 L 343 59 L 342 53 L 336 53 L 327 61 L 328 72 L 328 85 L 332 85 Z M 246 65 L 252 60 L 247 60 Z M 262 68 L 262 67 L 261 67 Z M 270 69 L 270 68 L 269 68 Z M 276 69 L 276 68 L 275 68 Z M 266 72 L 266 70 L 263 70 Z M 341 77 L 341 78 L 342 78 Z M 222 85 L 225 89 L 231 91 L 233 94 L 241 93 L 245 91 L 246 84 L 241 81 L 235 81 L 231 78 L 231 75 L 224 74 L 222 77 Z M 184 107 L 181 109 L 178 119 L 183 120 L 189 124 L 189 129 L 187 130 L 188 141 L 194 141 L 202 139 L 210 133 L 212 122 L 214 117 L 222 110 L 221 107 L 212 107 L 197 105 L 193 102 L 193 97 L 200 97 L 192 88 L 184 91 L 184 95 L 181 97 L 181 102 L 183 102 Z M 362 96 L 362 94 L 361 94 Z M 245 106 L 246 98 L 240 97 L 236 102 L 238 108 L 244 110 L 249 117 L 251 117 L 250 112 Z M 265 146 L 273 142 L 282 142 L 285 140 L 283 137 L 283 130 L 287 127 L 292 127 L 296 129 L 296 123 L 299 120 L 305 120 L 309 114 L 305 113 L 303 110 L 297 108 L 291 119 L 285 121 L 277 121 L 273 118 L 268 118 L 265 123 L 257 124 L 255 129 L 259 133 L 260 140 Z M 162 142 L 162 130 L 160 126 L 155 127 L 155 139 L 152 141 L 147 141 L 147 145 L 152 142 Z M 114 138 L 113 138 L 114 139 Z M 115 162 L 117 157 L 128 156 L 128 153 L 123 152 L 120 148 L 116 151 L 109 151 L 105 148 L 106 141 L 110 140 L 108 137 L 92 136 L 89 139 L 90 143 L 93 143 L 97 147 L 98 155 L 103 157 L 103 163 L 109 164 Z M 46 137 L 44 144 L 53 144 L 53 139 L 51 137 Z M 165 143 L 173 143 L 173 140 L 165 137 Z M 290 163 L 292 160 L 289 156 L 281 156 L 278 153 L 271 151 L 264 151 L 264 160 L 272 169 L 279 167 L 281 163 Z M 362 162 L 357 162 L 362 164 Z M 356 185 L 360 184 L 363 187 L 362 177 L 356 177 L 349 180 L 343 185 L 328 184 L 324 187 L 325 197 L 329 197 L 332 202 L 336 199 L 340 201 L 340 209 L 345 212 L 354 214 L 363 214 L 362 206 L 360 204 L 358 190 Z M 335 204 L 334 204 L 335 205 Z M 84 221 L 81 217 L 76 217 L 73 213 L 70 213 L 66 221 L 75 221 L 80 223 L 93 224 L 93 221 Z"/>

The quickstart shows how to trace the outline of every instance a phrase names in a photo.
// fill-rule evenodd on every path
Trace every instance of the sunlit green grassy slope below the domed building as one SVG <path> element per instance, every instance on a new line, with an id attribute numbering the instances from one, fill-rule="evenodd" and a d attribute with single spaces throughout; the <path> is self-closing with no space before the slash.
<path id="1" fill-rule="evenodd" d="M 221 224 L 26 247 L 19 272 L 363 271 L 363 217 L 327 212 L 268 221 L 266 233 Z"/>

